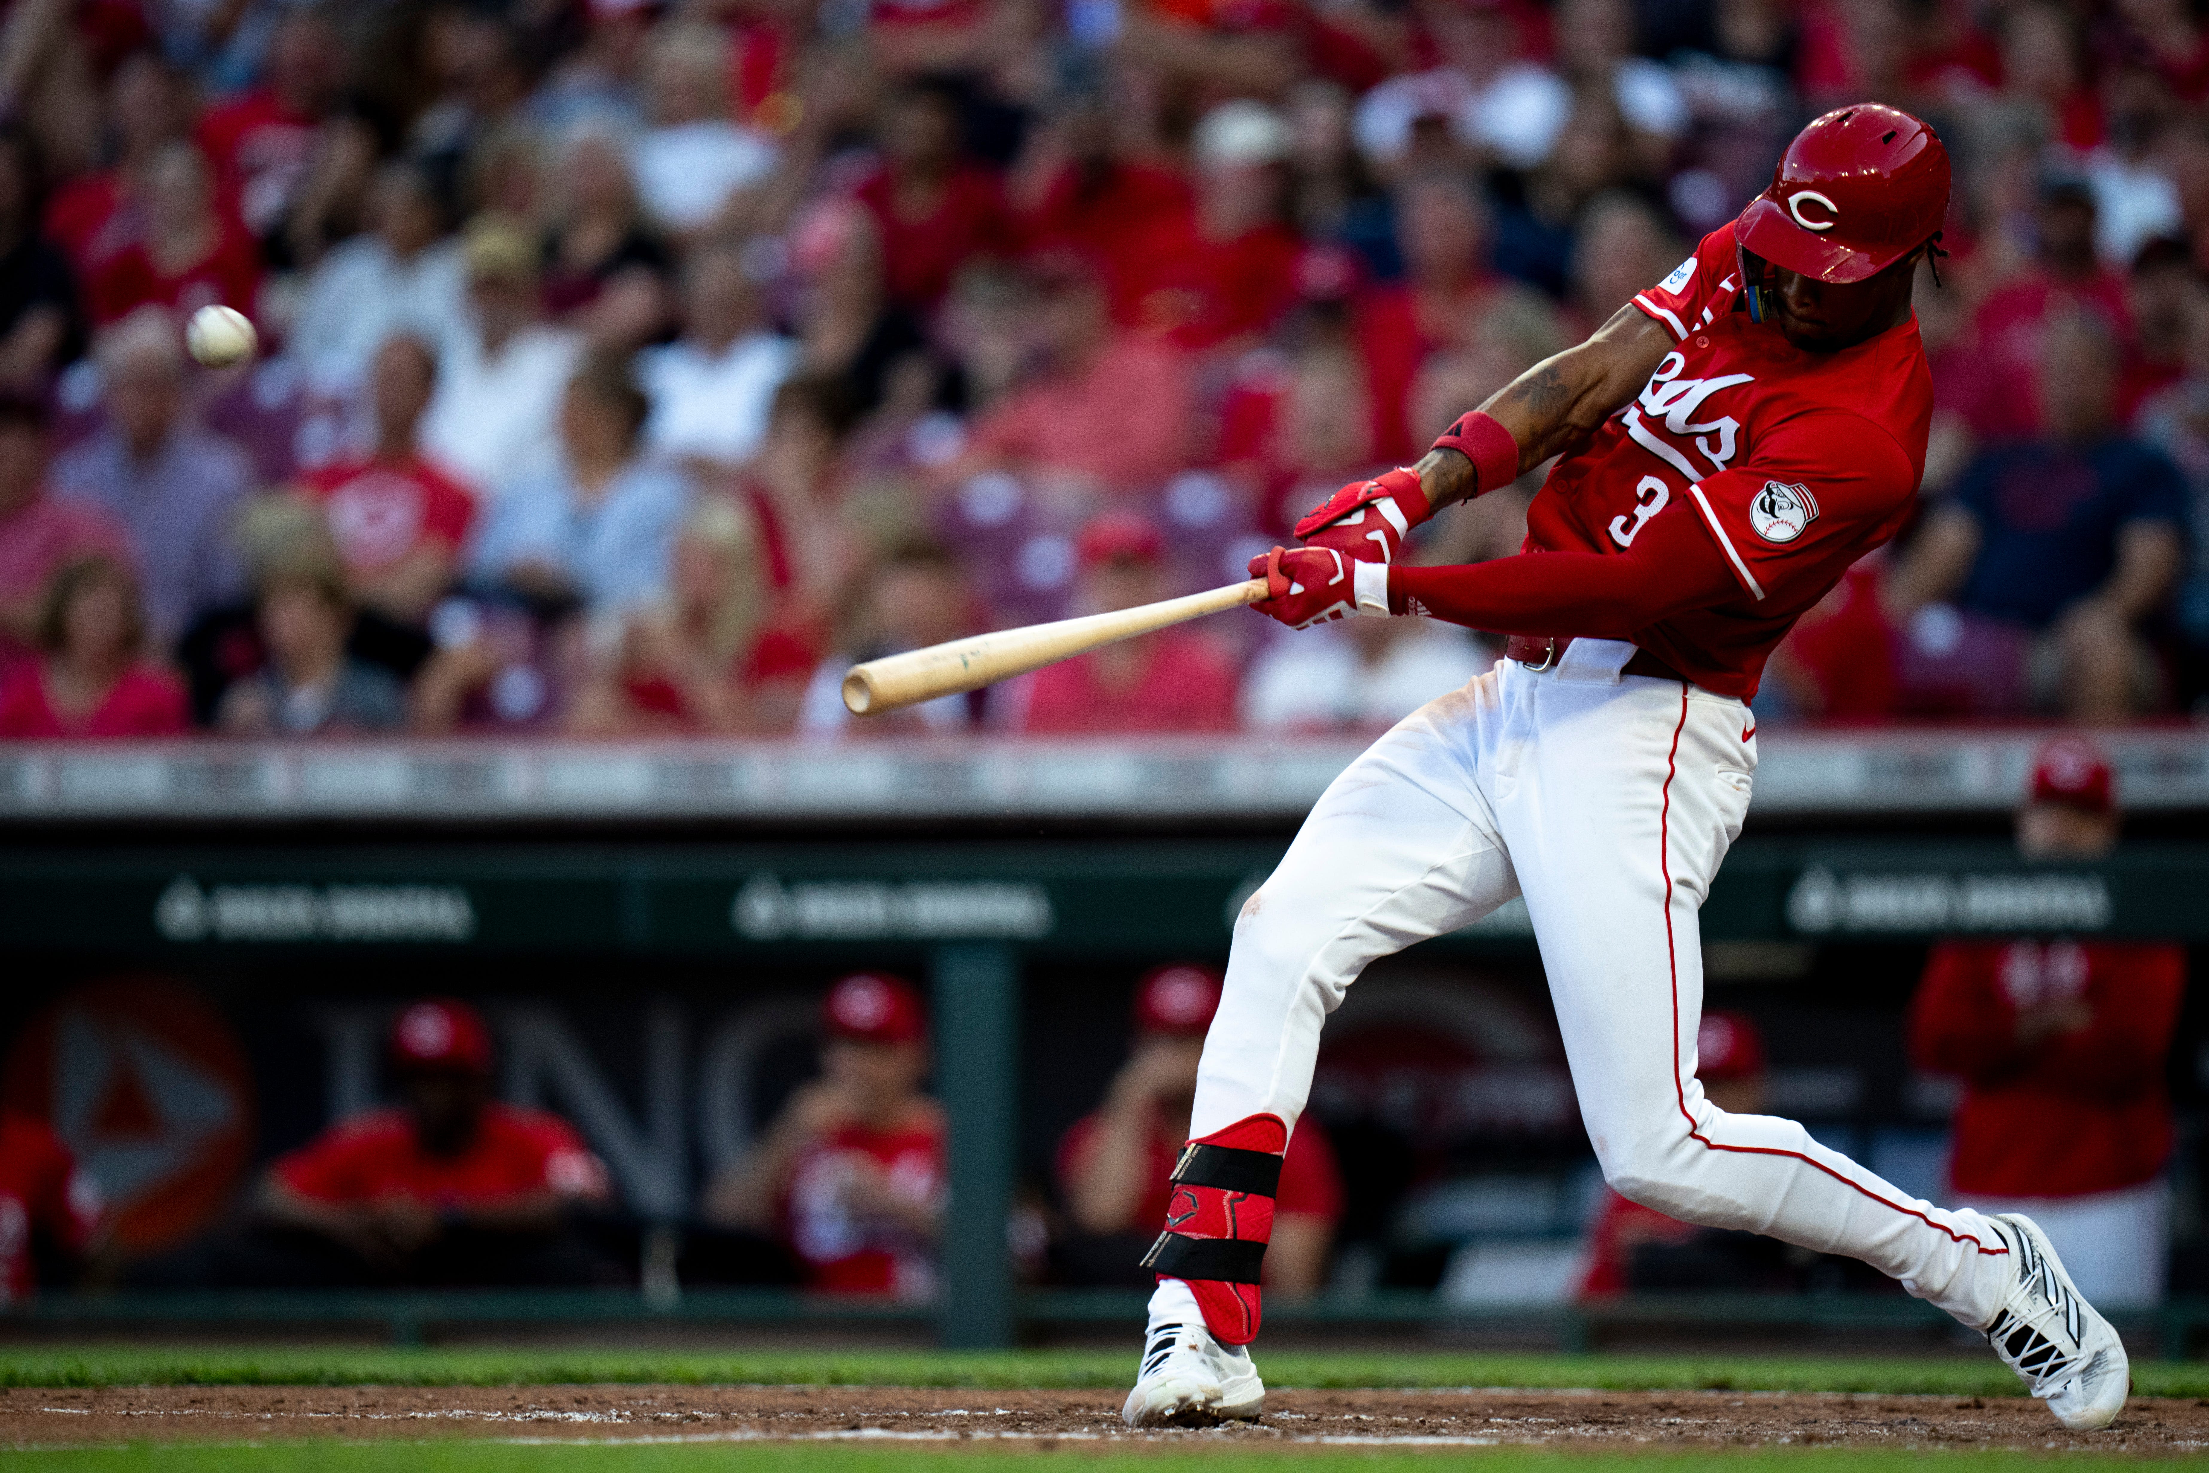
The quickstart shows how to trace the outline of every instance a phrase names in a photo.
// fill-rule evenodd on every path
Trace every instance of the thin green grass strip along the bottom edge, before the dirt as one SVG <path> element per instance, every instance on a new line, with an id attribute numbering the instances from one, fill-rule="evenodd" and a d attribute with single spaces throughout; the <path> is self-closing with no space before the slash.
<path id="1" fill-rule="evenodd" d="M 9 1453 L 11 1466 L 53 1473 L 963 1473 L 981 1464 L 987 1473 L 1266 1473 L 1281 1464 L 1341 1473 L 1434 1473 L 1438 1466 L 1469 1466 L 1478 1473 L 1909 1473 L 1935 1458 L 1940 1469 L 2012 1469 L 2019 1462 L 2105 1473 L 2138 1469 L 2136 1458 L 2092 1453 L 1970 1453 L 1970 1451 L 1856 1451 L 1856 1449 L 1692 1449 L 1692 1451 L 1566 1451 L 1535 1446 L 1456 1449 L 1319 1449 L 1319 1446 L 1164 1446 L 1085 1449 L 1060 1442 L 1058 1451 L 950 1446 L 853 1446 L 853 1444 L 751 1444 L 729 1446 L 486 1446 L 464 1442 L 294 1442 L 278 1446 L 190 1446 L 133 1444 L 121 1449 L 66 1449 Z"/>

